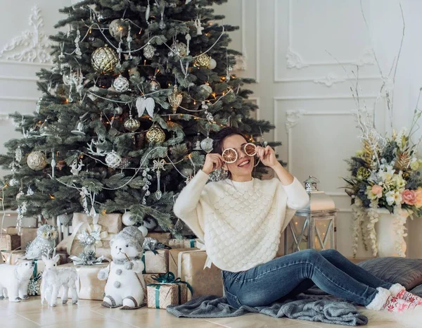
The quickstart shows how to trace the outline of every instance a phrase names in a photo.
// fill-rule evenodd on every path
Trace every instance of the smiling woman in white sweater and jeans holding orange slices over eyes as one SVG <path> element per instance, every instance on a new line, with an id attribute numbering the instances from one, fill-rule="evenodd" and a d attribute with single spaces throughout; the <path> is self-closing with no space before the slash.
<path id="1" fill-rule="evenodd" d="M 309 203 L 307 192 L 271 147 L 255 149 L 232 127 L 219 131 L 213 146 L 215 153 L 207 154 L 203 169 L 181 191 L 174 213 L 205 241 L 207 256 L 222 269 L 231 306 L 270 305 L 313 284 L 372 310 L 399 313 L 422 304 L 403 286 L 383 282 L 334 250 L 274 258 L 294 210 Z M 254 154 L 279 179 L 252 178 Z M 220 168 L 229 178 L 207 184 Z"/>

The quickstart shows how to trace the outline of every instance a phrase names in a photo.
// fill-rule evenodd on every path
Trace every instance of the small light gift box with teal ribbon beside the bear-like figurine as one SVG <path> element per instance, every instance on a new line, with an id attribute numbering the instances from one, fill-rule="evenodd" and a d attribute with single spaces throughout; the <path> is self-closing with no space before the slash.
<path id="1" fill-rule="evenodd" d="M 169 305 L 184 304 L 188 301 L 186 284 L 153 284 L 146 286 L 148 308 L 165 309 Z"/>

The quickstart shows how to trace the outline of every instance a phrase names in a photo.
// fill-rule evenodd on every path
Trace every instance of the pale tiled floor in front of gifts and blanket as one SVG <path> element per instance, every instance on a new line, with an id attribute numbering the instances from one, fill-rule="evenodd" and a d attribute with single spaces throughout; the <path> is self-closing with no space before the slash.
<path id="1" fill-rule="evenodd" d="M 216 319 L 179 319 L 165 310 L 140 308 L 124 311 L 108 309 L 99 301 L 79 301 L 78 305 L 58 303 L 56 308 L 41 306 L 39 297 L 29 301 L 10 303 L 0 301 L 1 328 L 127 328 L 127 327 L 179 327 L 179 328 L 217 328 L 217 327 L 293 327 L 293 328 L 334 328 L 345 327 L 319 322 L 307 322 L 290 319 L 274 319 L 267 315 L 243 315 Z M 393 322 L 373 322 L 368 328 L 396 328 Z M 421 326 L 422 327 L 422 326 Z"/>

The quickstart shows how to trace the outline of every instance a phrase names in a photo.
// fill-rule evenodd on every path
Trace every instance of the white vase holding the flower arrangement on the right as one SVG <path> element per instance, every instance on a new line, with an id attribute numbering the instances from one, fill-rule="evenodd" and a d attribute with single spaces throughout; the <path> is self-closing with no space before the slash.
<path id="1" fill-rule="evenodd" d="M 385 208 L 379 208 L 378 222 L 375 225 L 378 256 L 406 257 L 406 241 L 404 241 L 404 225 L 409 214 L 406 211 L 390 213 Z"/>

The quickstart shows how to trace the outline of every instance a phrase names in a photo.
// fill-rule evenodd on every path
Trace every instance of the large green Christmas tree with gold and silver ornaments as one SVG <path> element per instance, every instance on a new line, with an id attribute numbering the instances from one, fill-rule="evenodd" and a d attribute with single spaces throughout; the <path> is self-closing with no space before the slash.
<path id="1" fill-rule="evenodd" d="M 0 164 L 4 207 L 49 219 L 124 213 L 178 236 L 174 199 L 202 168 L 212 133 L 231 125 L 259 141 L 253 80 L 233 72 L 224 0 L 87 0 L 63 8 L 53 69 L 38 73 L 32 115 L 13 113 L 20 139 Z M 63 30 L 63 28 L 61 29 Z M 270 143 L 275 146 L 276 143 Z M 257 172 L 263 172 L 258 168 Z"/>

